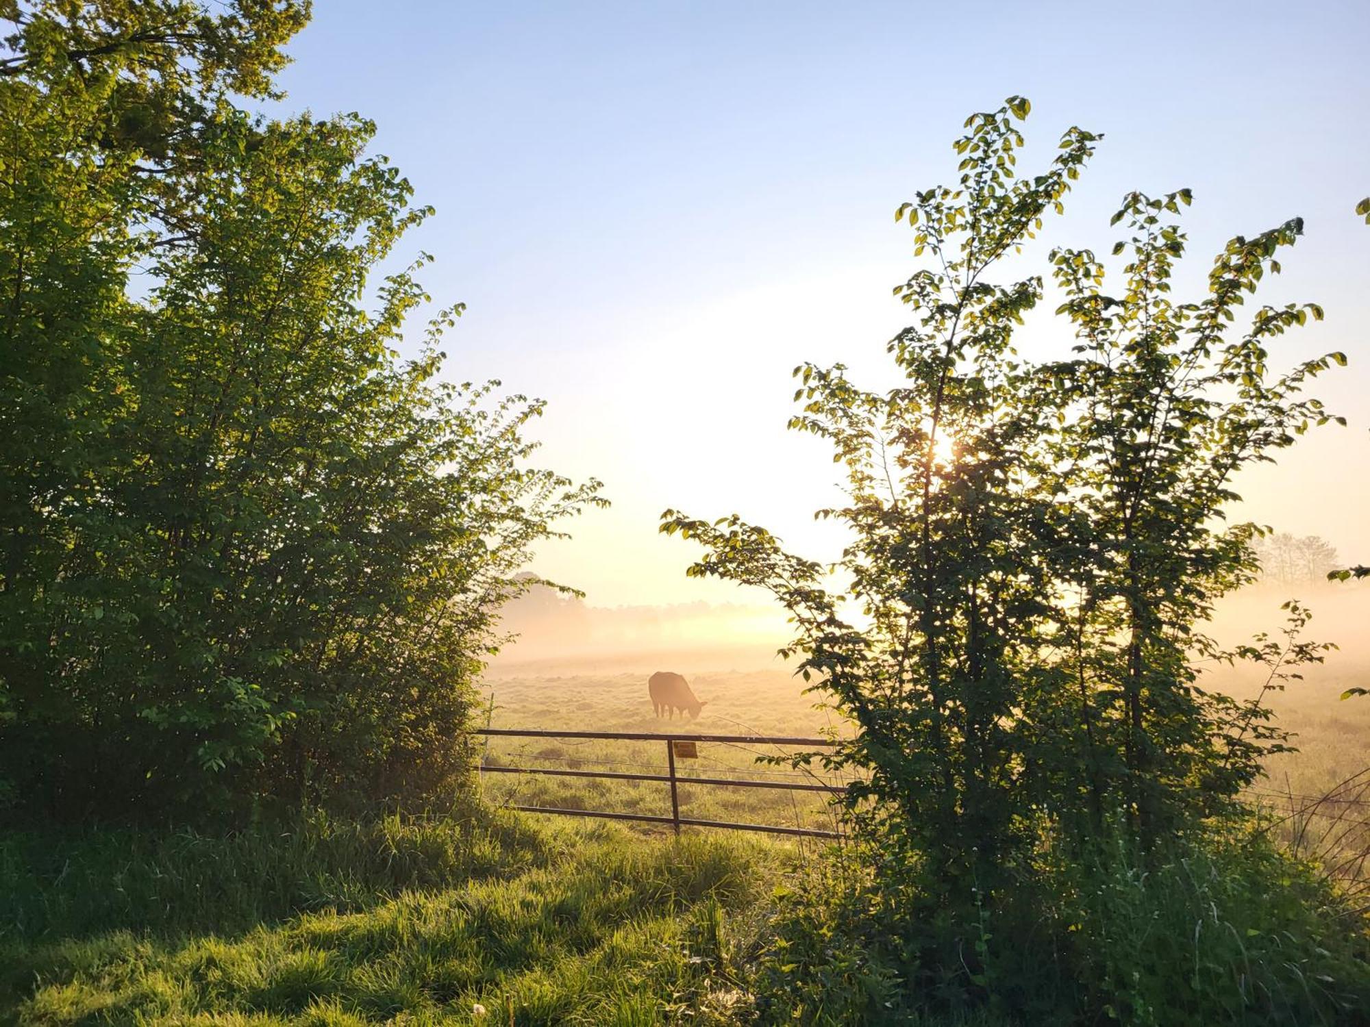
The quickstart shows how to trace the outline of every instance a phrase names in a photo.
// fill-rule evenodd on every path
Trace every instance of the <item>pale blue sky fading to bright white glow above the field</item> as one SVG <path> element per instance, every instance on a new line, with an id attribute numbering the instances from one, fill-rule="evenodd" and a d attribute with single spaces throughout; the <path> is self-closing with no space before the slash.
<path id="1" fill-rule="evenodd" d="M 1275 363 L 1345 351 L 1317 394 L 1351 426 L 1244 472 L 1237 516 L 1370 561 L 1367 38 L 1365 0 L 315 0 L 281 111 L 374 119 L 375 152 L 437 208 L 400 257 L 432 253 L 434 301 L 467 304 L 445 374 L 547 400 L 540 461 L 614 504 L 534 564 L 595 605 L 759 598 L 685 578 L 696 550 L 658 535 L 667 507 L 836 553 L 811 514 L 837 468 L 785 430 L 790 368 L 888 382 L 907 320 L 891 289 L 918 267 L 893 211 L 954 181 L 966 115 L 1011 94 L 1033 104 L 1026 171 L 1070 125 L 1106 136 L 1033 270 L 1052 245 L 1107 252 L 1130 189 L 1193 189 L 1191 294 L 1230 236 L 1306 219 L 1262 300 L 1328 319 Z M 1034 357 L 1069 345 L 1045 316 L 1021 340 Z"/>

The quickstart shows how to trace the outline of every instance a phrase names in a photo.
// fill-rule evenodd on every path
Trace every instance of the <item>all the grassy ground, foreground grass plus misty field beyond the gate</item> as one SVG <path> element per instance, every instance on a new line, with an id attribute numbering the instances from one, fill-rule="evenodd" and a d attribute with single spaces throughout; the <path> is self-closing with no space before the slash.
<path id="1" fill-rule="evenodd" d="M 1370 765 L 1370 700 L 1337 698 L 1370 679 L 1370 645 L 1345 630 L 1338 637 L 1345 624 L 1330 627 L 1321 637 L 1349 644 L 1271 697 L 1302 748 L 1273 760 L 1259 789 L 1271 808 Z M 697 720 L 653 718 L 655 670 L 689 678 L 708 701 Z M 1259 678 L 1245 668 L 1211 683 L 1249 694 Z M 485 693 L 496 727 L 847 730 L 755 650 L 506 660 Z M 700 745 L 697 760 L 678 765 L 696 776 L 806 779 L 755 763 L 771 752 L 780 750 Z M 485 759 L 660 772 L 664 745 L 492 738 Z M 486 774 L 481 787 L 495 807 L 670 811 L 656 782 Z M 700 819 L 833 826 L 814 793 L 682 786 L 681 807 Z M 1308 819 L 1322 827 L 1366 819 L 1354 809 L 1363 807 Z M 769 937 L 773 890 L 790 871 L 818 865 L 823 842 L 669 834 L 499 811 L 373 823 L 315 815 L 230 837 L 0 833 L 0 1023 L 766 1023 L 748 974 Z"/>

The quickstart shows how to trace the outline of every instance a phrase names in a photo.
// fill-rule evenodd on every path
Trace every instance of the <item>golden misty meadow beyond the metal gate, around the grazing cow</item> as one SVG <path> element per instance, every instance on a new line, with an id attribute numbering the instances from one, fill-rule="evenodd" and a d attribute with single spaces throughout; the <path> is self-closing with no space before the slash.
<path id="1" fill-rule="evenodd" d="M 1282 623 L 1280 604 L 1286 589 L 1255 587 L 1229 600 L 1211 624 L 1223 645 L 1248 639 L 1256 631 L 1274 633 Z M 1275 711 L 1278 723 L 1293 731 L 1295 752 L 1267 761 L 1267 776 L 1249 793 L 1282 822 L 1281 828 L 1310 854 L 1329 831 L 1347 848 L 1363 845 L 1370 820 L 1370 700 L 1345 700 L 1349 687 L 1370 685 L 1370 587 L 1314 586 L 1306 590 L 1314 620 L 1310 638 L 1332 641 L 1338 648 L 1325 663 L 1302 668 L 1302 678 L 1284 690 L 1269 692 L 1263 704 Z M 515 645 L 486 675 L 486 709 L 482 722 L 497 728 L 574 731 L 651 731 L 699 734 L 764 734 L 827 737 L 851 724 L 822 702 L 821 693 L 806 693 L 792 668 L 774 656 L 774 646 L 754 642 L 726 649 L 659 649 L 600 656 L 541 657 L 521 660 Z M 647 693 L 647 678 L 658 670 L 685 675 L 706 707 L 697 720 L 656 718 Z M 1200 685 L 1238 698 L 1256 696 L 1266 671 L 1249 663 L 1210 665 Z M 664 774 L 660 742 L 508 738 L 482 742 L 488 764 L 566 770 Z M 760 756 L 790 752 L 785 746 L 700 744 L 699 760 L 681 760 L 677 771 L 693 776 L 755 778 L 841 785 L 843 781 L 812 768 L 814 775 L 759 764 Z M 1349 783 L 1348 783 L 1349 782 Z M 486 774 L 482 794 L 496 805 L 543 805 L 567 809 L 670 815 L 670 794 L 656 782 L 595 781 L 541 775 Z M 1340 801 L 1325 801 L 1333 793 Z M 681 813 L 710 820 L 770 823 L 832 830 L 833 819 L 821 793 L 763 789 L 681 786 Z M 1358 812 L 1359 811 L 1359 812 Z M 1288 823 L 1284 823 L 1291 817 Z M 648 834 L 662 828 L 641 826 Z M 669 828 L 666 828 L 669 830 Z"/>

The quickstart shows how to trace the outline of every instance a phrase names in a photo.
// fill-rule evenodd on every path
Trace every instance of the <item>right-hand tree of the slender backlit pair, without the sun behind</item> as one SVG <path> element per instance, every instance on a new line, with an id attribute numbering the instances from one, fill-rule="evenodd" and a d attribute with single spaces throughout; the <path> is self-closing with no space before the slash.
<path id="1" fill-rule="evenodd" d="M 1280 271 L 1277 252 L 1303 222 L 1233 238 L 1214 262 L 1208 296 L 1175 303 L 1171 277 L 1186 238 L 1166 215 L 1188 203 L 1188 190 L 1125 199 L 1114 215 L 1132 233 L 1114 246 L 1129 256 L 1118 296 L 1103 292 L 1104 266 L 1089 251 L 1052 253 L 1067 297 L 1058 312 L 1074 323 L 1080 353 L 1052 374 L 1077 393 L 1058 467 L 1062 493 L 1082 515 L 1078 544 L 1091 553 L 1082 601 L 1095 629 L 1093 705 L 1121 722 L 1126 808 L 1147 839 L 1259 772 L 1223 752 L 1229 701 L 1199 689 L 1191 665 L 1192 653 L 1212 650 L 1196 627 L 1214 600 L 1256 570 L 1255 527 L 1221 530 L 1240 500 L 1232 478 L 1249 461 L 1271 460 L 1310 424 L 1345 423 L 1302 397 L 1312 377 L 1345 364 L 1344 355 L 1284 374 L 1270 368 L 1273 340 L 1321 319 L 1317 304 L 1262 307 L 1229 337 L 1244 297 Z"/>

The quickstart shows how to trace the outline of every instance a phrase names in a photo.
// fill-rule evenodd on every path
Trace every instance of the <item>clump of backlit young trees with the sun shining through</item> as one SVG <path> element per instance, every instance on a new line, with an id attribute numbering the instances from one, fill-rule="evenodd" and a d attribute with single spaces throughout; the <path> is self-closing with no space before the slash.
<path id="1" fill-rule="evenodd" d="M 1115 294 L 1091 251 L 1054 251 L 1070 352 L 1018 357 L 1041 279 L 989 274 L 1062 210 L 1100 138 L 1070 129 L 1019 178 L 1028 111 L 1012 97 L 973 115 L 958 185 L 896 212 L 930 257 L 895 290 L 918 314 L 888 346 L 901 383 L 873 393 L 841 366 L 796 368 L 792 427 L 829 440 L 847 472 L 847 505 L 818 514 L 849 530 L 840 586 L 737 516 L 662 523 L 704 546 L 692 575 L 770 589 L 789 609 L 786 653 L 860 727 L 830 760 L 864 771 L 848 801 L 882 839 L 881 865 L 921 868 L 921 894 L 963 913 L 1001 894 L 1043 826 L 1078 842 L 1121 819 L 1149 848 L 1225 808 L 1284 745 L 1259 705 L 1207 693 L 1192 665 L 1269 670 L 1269 646 L 1219 652 L 1197 624 L 1256 570 L 1254 526 L 1222 526 L 1232 475 L 1333 419 L 1300 393 L 1344 363 L 1270 370 L 1271 340 L 1321 318 L 1312 304 L 1263 307 L 1229 337 L 1299 220 L 1234 238 L 1207 297 L 1171 299 L 1185 236 L 1167 216 L 1188 190 L 1125 197 Z M 1318 659 L 1302 627 L 1269 672 Z"/>

